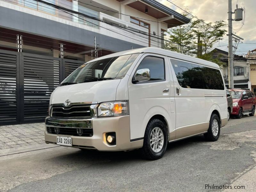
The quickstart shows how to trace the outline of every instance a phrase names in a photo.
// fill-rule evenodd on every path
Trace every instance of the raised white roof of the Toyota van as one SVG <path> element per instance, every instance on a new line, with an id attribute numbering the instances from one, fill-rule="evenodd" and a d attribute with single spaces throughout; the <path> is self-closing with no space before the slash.
<path id="1" fill-rule="evenodd" d="M 156 47 L 145 47 L 145 48 L 139 48 L 139 49 L 132 49 L 132 50 L 127 50 L 127 51 L 117 52 L 117 53 L 109 54 L 109 55 L 106 55 L 106 56 L 103 56 L 103 57 L 99 57 L 97 59 L 94 59 L 93 61 L 106 59 L 106 58 L 109 58 L 109 57 L 116 57 L 116 56 L 121 56 L 121 55 L 134 54 L 134 53 L 155 53 L 155 54 L 165 55 L 165 56 L 168 56 L 168 57 L 177 58 L 177 59 L 181 59 L 181 60 L 186 60 L 186 61 L 190 61 L 190 62 L 194 62 L 194 63 L 198 63 L 198 64 L 203 64 L 203 65 L 214 67 L 214 68 L 220 68 L 219 65 L 217 65 L 216 63 L 213 63 L 211 61 L 206 61 L 206 60 L 199 59 L 199 58 L 196 58 L 196 57 L 192 57 L 192 56 L 188 56 L 188 55 L 185 55 L 185 54 L 181 54 L 181 53 L 177 53 L 177 52 L 173 52 L 173 51 L 169 51 L 169 50 L 165 50 L 165 49 L 160 49 L 160 48 L 156 48 Z M 91 62 L 91 61 L 89 61 L 89 62 Z"/>

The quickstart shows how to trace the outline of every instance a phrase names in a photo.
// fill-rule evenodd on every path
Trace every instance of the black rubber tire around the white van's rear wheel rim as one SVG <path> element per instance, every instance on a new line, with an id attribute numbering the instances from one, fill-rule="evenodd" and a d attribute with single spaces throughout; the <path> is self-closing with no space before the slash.
<path id="1" fill-rule="evenodd" d="M 212 124 L 215 123 L 215 120 L 218 123 L 218 133 L 214 135 L 212 130 Z M 220 137 L 220 118 L 217 114 L 213 113 L 210 119 L 210 124 L 207 133 L 204 133 L 204 138 L 208 141 L 217 141 Z"/>

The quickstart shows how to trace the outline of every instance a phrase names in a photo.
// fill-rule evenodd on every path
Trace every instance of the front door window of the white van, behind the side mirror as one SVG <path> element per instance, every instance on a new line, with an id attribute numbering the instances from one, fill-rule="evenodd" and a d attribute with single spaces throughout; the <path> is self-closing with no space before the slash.
<path id="1" fill-rule="evenodd" d="M 137 70 L 139 69 L 149 69 L 150 71 L 149 81 L 165 80 L 163 58 L 147 56 L 141 61 Z"/>

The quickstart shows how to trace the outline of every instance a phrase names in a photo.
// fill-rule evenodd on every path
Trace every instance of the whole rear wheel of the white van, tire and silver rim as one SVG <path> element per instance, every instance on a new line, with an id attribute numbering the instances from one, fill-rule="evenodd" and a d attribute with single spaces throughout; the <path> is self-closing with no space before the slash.
<path id="1" fill-rule="evenodd" d="M 212 114 L 207 133 L 204 138 L 208 141 L 217 141 L 220 137 L 220 118 L 216 114 Z"/>

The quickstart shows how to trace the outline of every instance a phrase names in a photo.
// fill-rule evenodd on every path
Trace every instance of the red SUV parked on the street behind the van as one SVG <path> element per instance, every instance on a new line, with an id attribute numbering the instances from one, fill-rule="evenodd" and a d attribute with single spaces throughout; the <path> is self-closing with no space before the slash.
<path id="1" fill-rule="evenodd" d="M 249 114 L 254 116 L 256 98 L 253 92 L 243 89 L 229 89 L 229 92 L 233 99 L 233 112 L 237 119 L 241 119 L 243 115 Z"/>

